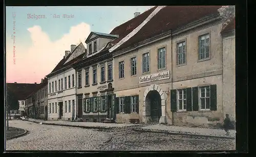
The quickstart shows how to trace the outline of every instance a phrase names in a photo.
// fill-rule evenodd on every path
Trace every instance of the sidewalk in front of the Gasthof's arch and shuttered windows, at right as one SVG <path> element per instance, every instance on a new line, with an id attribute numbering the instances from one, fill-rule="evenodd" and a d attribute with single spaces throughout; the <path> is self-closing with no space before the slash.
<path id="1" fill-rule="evenodd" d="M 235 139 L 236 131 L 229 130 L 229 136 L 226 136 L 226 132 L 223 129 L 211 129 L 211 128 L 198 128 L 198 127 L 183 127 L 183 126 L 167 126 L 162 124 L 148 125 L 138 129 L 137 131 L 146 132 L 159 132 L 159 133 L 169 133 L 169 134 L 184 134 L 191 136 L 201 136 L 210 138 L 223 138 L 223 139 Z"/>

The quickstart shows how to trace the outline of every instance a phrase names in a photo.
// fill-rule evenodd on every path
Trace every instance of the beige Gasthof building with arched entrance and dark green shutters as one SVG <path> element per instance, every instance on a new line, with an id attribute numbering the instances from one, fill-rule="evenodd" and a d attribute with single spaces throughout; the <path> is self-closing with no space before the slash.
<path id="1" fill-rule="evenodd" d="M 120 44 L 113 51 L 116 122 L 138 119 L 145 123 L 195 126 L 223 122 L 227 113 L 224 105 L 229 106 L 224 98 L 234 102 L 233 92 L 229 92 L 232 96 L 223 94 L 224 87 L 234 91 L 234 81 L 223 85 L 223 78 L 234 78 L 234 66 L 228 69 L 223 64 L 223 42 L 231 39 L 222 39 L 219 8 L 164 7 L 139 31 L 134 30 L 133 37 L 116 43 Z M 172 16 L 174 11 L 181 13 Z M 191 17 L 189 12 L 195 12 L 195 16 Z M 163 18 L 167 20 L 159 24 Z M 170 24 L 179 18 L 179 24 Z M 157 29 L 158 34 L 146 33 L 156 33 Z M 233 48 L 226 51 L 234 54 Z M 232 57 L 229 59 L 234 63 Z M 229 73 L 224 73 L 225 69 Z M 234 110 L 231 112 L 233 115 Z"/>

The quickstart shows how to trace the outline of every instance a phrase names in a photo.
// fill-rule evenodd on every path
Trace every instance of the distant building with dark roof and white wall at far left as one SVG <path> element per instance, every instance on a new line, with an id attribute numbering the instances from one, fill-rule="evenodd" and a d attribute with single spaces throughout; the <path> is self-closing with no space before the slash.
<path id="1" fill-rule="evenodd" d="M 11 110 L 11 114 L 22 114 L 25 112 L 25 100 L 38 86 L 36 83 L 7 83 L 7 86 L 12 90 L 19 102 L 18 110 Z"/>

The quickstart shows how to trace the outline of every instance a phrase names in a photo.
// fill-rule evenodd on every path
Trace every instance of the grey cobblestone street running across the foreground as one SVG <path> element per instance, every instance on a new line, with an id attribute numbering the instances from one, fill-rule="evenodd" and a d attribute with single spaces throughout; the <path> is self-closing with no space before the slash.
<path id="1" fill-rule="evenodd" d="M 6 150 L 233 150 L 235 140 L 138 132 L 138 126 L 84 129 L 22 120 L 10 126 L 29 131 L 6 142 Z"/>

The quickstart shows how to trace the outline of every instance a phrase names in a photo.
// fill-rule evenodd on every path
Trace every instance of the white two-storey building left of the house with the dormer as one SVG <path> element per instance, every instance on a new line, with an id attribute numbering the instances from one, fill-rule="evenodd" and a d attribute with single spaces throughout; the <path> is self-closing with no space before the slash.
<path id="1" fill-rule="evenodd" d="M 48 120 L 74 120 L 77 118 L 75 70 L 72 63 L 86 54 L 83 44 L 71 45 L 63 59 L 56 65 L 48 78 Z M 79 115 L 78 115 L 79 116 Z"/>

